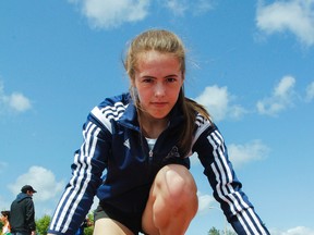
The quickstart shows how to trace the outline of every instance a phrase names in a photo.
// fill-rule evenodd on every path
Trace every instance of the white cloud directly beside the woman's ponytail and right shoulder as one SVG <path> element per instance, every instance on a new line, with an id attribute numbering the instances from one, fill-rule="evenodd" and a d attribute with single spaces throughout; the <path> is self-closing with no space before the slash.
<path id="1" fill-rule="evenodd" d="M 217 85 L 205 87 L 205 90 L 195 98 L 195 101 L 207 108 L 215 122 L 227 116 L 239 119 L 246 112 L 243 107 L 231 104 L 232 96 L 228 92 L 227 87 L 218 87 Z"/>

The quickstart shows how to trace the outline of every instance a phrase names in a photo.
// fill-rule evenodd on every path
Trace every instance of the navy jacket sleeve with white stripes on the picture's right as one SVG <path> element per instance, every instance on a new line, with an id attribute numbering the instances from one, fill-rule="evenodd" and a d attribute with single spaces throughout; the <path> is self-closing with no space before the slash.
<path id="1" fill-rule="evenodd" d="M 193 151 L 204 166 L 204 174 L 214 190 L 214 197 L 237 234 L 269 234 L 253 205 L 242 191 L 229 161 L 224 138 L 217 127 L 209 122 L 198 126 Z"/>

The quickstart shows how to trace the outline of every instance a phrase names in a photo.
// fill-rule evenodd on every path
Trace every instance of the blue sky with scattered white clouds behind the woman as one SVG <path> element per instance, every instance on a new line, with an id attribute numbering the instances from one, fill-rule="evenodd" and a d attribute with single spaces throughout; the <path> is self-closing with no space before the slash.
<path id="1" fill-rule="evenodd" d="M 185 42 L 186 96 L 208 108 L 271 234 L 313 235 L 314 0 L 0 1 L 0 209 L 32 184 L 36 217 L 52 213 L 88 112 L 128 89 L 128 41 L 156 27 Z M 192 163 L 186 234 L 222 230 Z"/>

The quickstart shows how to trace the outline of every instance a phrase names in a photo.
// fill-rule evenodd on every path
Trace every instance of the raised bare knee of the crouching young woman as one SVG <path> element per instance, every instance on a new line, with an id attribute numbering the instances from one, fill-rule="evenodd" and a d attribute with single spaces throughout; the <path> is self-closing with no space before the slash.
<path id="1" fill-rule="evenodd" d="M 162 168 L 152 185 L 142 224 L 149 235 L 183 235 L 197 212 L 196 184 L 179 164 Z"/>

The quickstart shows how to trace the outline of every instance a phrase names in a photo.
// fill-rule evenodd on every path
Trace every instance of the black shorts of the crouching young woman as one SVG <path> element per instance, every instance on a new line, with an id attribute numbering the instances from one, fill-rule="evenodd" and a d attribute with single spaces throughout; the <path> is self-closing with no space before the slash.
<path id="1" fill-rule="evenodd" d="M 104 218 L 116 220 L 131 230 L 134 234 L 142 232 L 142 212 L 125 213 L 109 203 L 99 202 L 97 209 L 94 211 L 95 221 Z"/>

